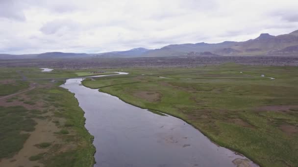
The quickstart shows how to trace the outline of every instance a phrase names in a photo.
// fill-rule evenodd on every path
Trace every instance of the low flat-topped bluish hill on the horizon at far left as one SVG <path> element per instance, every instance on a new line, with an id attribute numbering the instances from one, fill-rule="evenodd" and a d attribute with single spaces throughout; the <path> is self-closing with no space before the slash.
<path id="1" fill-rule="evenodd" d="M 82 57 L 90 57 L 89 54 L 86 53 L 63 53 L 63 52 L 47 52 L 38 54 L 37 58 L 82 58 Z"/>

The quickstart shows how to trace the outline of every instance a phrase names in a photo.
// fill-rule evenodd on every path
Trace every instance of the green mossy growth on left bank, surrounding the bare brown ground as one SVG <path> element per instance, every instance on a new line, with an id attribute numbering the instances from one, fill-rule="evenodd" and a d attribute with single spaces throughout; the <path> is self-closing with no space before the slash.
<path id="1" fill-rule="evenodd" d="M 28 79 L 68 78 L 76 76 L 74 71 L 54 70 L 50 73 L 44 73 L 40 72 L 40 69 L 38 68 L 1 67 L 0 80 L 21 80 L 22 78 L 20 74 L 15 71 L 22 71 Z M 10 100 L 18 100 L 20 102 L 24 102 L 25 104 L 30 104 L 34 108 L 37 102 L 42 102 L 44 104 L 42 106 L 44 109 L 27 110 L 22 106 L 0 106 L 0 159 L 12 157 L 15 153 L 22 149 L 25 141 L 30 135 L 26 131 L 33 131 L 34 125 L 36 125 L 34 119 L 42 119 L 40 121 L 51 121 L 51 119 L 53 119 L 52 116 L 55 115 L 61 117 L 63 122 L 66 121 L 63 126 L 67 127 L 67 130 L 62 130 L 61 132 L 65 134 L 68 131 L 71 131 L 72 134 L 59 136 L 59 138 L 63 140 L 62 144 L 48 146 L 49 149 L 45 149 L 45 151 L 47 151 L 45 154 L 34 155 L 30 157 L 30 160 L 39 161 L 44 163 L 44 166 L 52 167 L 92 167 L 95 163 L 95 147 L 92 145 L 93 136 L 89 134 L 84 126 L 84 112 L 78 106 L 74 94 L 59 87 L 59 85 L 65 82 L 64 80 L 57 80 L 55 83 L 49 83 L 47 80 L 35 80 L 34 82 L 39 85 L 44 84 L 47 86 L 36 87 L 35 89 L 26 92 L 25 95 L 27 98 L 30 98 L 29 100 L 25 100 L 23 98 L 11 98 Z M 17 81 L 16 83 L 6 85 L 0 84 L 0 96 L 16 93 L 28 87 L 29 83 L 23 81 Z M 45 113 L 45 109 L 47 110 L 46 112 L 48 112 L 47 116 L 41 115 Z M 57 113 L 54 113 L 55 111 Z M 59 128 L 61 127 L 59 122 L 56 121 L 55 124 Z M 61 150 L 59 149 L 61 148 L 61 145 L 69 144 L 70 142 L 72 150 L 70 151 L 66 149 L 64 150 L 65 152 L 60 152 Z M 44 144 L 41 144 L 40 146 L 45 147 Z M 74 155 L 75 159 L 72 158 Z M 72 161 L 67 162 L 65 160 Z"/>

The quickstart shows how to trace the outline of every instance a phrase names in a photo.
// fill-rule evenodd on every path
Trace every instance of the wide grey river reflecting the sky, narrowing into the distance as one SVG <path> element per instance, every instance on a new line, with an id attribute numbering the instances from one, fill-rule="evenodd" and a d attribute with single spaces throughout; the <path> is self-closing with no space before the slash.
<path id="1" fill-rule="evenodd" d="M 257 166 L 180 119 L 124 103 L 81 85 L 82 80 L 68 79 L 61 86 L 75 93 L 85 111 L 85 127 L 95 137 L 95 167 Z"/>

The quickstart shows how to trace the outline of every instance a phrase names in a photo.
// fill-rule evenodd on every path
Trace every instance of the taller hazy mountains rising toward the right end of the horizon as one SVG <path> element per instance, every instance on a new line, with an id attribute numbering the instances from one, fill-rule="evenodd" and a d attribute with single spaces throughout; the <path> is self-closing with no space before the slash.
<path id="1" fill-rule="evenodd" d="M 142 56 L 179 56 L 189 52 L 211 52 L 217 55 L 227 56 L 273 55 L 275 53 L 273 52 L 274 50 L 281 50 L 295 45 L 298 45 L 298 30 L 279 36 L 264 33 L 256 39 L 245 42 L 226 41 L 221 43 L 172 44 L 160 49 L 149 50 Z M 289 55 L 287 53 L 284 52 L 283 55 Z"/>

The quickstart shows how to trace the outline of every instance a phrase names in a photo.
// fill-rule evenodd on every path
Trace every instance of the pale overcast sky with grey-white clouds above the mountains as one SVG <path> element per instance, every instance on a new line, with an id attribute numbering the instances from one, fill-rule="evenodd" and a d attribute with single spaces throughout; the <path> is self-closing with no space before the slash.
<path id="1" fill-rule="evenodd" d="M 99 53 L 298 29 L 298 0 L 0 0 L 0 53 Z"/>

